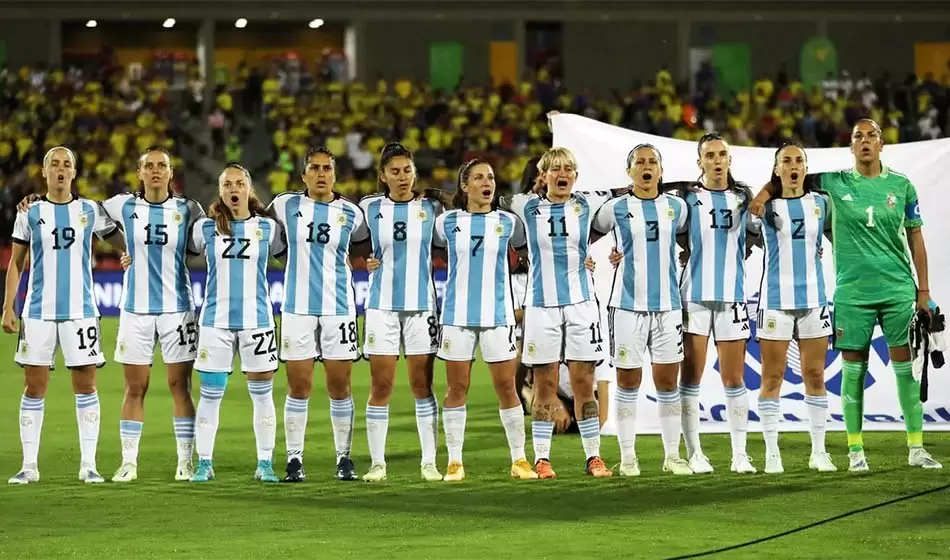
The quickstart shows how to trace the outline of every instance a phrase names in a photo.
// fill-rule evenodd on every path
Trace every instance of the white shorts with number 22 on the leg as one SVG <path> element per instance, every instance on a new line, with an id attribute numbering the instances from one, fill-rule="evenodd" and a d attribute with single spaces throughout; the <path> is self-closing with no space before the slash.
<path id="1" fill-rule="evenodd" d="M 241 371 L 265 373 L 277 369 L 277 332 L 269 329 L 230 330 L 201 327 L 195 369 L 208 373 L 231 373 L 235 351 L 241 355 Z"/>

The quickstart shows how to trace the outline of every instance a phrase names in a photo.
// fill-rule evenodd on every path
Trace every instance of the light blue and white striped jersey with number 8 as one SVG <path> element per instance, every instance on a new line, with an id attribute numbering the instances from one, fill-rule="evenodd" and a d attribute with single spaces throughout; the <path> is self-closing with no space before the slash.
<path id="1" fill-rule="evenodd" d="M 432 236 L 442 204 L 431 198 L 396 202 L 384 194 L 360 201 L 373 258 L 380 266 L 369 275 L 369 309 L 435 312 Z"/>

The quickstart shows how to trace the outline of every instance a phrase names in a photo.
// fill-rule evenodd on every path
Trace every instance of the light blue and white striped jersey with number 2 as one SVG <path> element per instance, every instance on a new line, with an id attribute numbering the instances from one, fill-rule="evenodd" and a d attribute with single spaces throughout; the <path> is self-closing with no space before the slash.
<path id="1" fill-rule="evenodd" d="M 821 242 L 831 229 L 831 204 L 823 195 L 776 198 L 765 216 L 750 225 L 760 228 L 765 248 L 760 309 L 816 309 L 828 305 Z"/>

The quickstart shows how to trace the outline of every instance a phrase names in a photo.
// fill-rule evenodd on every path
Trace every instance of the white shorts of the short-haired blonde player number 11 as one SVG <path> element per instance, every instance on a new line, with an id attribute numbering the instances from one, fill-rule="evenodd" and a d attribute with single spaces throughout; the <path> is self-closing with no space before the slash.
<path id="1" fill-rule="evenodd" d="M 564 307 L 526 307 L 521 361 L 537 366 L 572 360 L 602 359 L 604 338 L 595 301 Z"/>

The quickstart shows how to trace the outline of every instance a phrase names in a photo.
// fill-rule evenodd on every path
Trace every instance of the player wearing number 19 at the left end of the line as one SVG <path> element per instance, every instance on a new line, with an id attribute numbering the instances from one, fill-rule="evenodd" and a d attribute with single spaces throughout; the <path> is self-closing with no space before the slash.
<path id="1" fill-rule="evenodd" d="M 44 397 L 56 347 L 72 372 L 79 424 L 79 480 L 100 483 L 96 470 L 99 443 L 99 394 L 96 369 L 105 364 L 99 341 L 99 308 L 92 290 L 92 236 L 115 233 L 95 202 L 73 196 L 76 155 L 59 146 L 43 157 L 46 195 L 17 213 L 13 253 L 7 269 L 3 330 L 17 332 L 17 289 L 30 255 L 26 301 L 20 316 L 20 341 L 14 360 L 23 366 L 26 389 L 20 399 L 23 467 L 10 484 L 39 482 L 37 455 L 43 428 Z"/>

